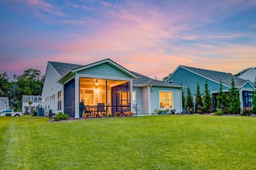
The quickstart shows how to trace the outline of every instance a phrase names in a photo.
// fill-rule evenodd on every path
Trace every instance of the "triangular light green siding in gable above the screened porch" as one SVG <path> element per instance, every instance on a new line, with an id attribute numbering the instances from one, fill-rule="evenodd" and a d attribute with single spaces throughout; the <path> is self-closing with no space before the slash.
<path id="1" fill-rule="evenodd" d="M 109 63 L 102 63 L 88 69 L 77 71 L 79 75 L 103 76 L 109 78 L 132 78 Z"/>

